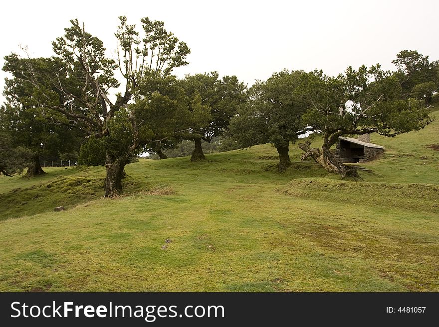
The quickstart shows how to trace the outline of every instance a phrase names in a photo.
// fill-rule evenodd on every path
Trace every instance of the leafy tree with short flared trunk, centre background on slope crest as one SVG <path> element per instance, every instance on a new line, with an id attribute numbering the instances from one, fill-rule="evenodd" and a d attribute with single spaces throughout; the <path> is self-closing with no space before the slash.
<path id="1" fill-rule="evenodd" d="M 203 110 L 209 112 L 205 124 L 194 125 L 189 133 L 182 135 L 184 139 L 195 143 L 191 161 L 205 160 L 201 141 L 211 142 L 228 129 L 231 117 L 246 102 L 245 86 L 236 76 L 219 79 L 218 72 L 187 75 L 183 85 L 188 96 L 196 103 L 200 99 Z M 198 123 L 201 123 L 200 119 Z"/>

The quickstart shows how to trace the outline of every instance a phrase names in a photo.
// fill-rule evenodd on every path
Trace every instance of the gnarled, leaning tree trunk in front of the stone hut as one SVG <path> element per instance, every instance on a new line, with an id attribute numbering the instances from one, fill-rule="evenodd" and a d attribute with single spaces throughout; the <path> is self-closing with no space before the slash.
<path id="1" fill-rule="evenodd" d="M 342 179 L 346 176 L 362 179 L 360 175 L 358 175 L 357 168 L 345 165 L 336 160 L 325 145 L 322 146 L 321 150 L 311 148 L 309 145 L 310 143 L 308 141 L 305 143 L 299 143 L 299 148 L 305 151 L 305 153 L 302 154 L 301 160 L 311 157 L 328 172 L 340 174 Z"/>

